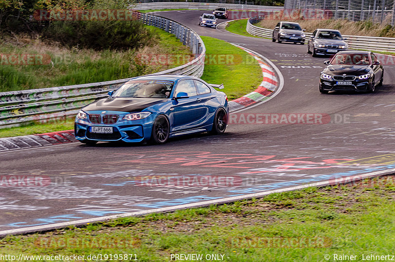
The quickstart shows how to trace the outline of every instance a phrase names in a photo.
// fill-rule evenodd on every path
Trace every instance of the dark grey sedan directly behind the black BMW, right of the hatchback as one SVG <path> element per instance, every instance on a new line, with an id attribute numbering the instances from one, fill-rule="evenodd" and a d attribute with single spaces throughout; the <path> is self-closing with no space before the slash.
<path id="1" fill-rule="evenodd" d="M 314 57 L 318 55 L 333 55 L 348 48 L 345 38 L 338 30 L 316 29 L 307 43 L 307 52 Z"/>

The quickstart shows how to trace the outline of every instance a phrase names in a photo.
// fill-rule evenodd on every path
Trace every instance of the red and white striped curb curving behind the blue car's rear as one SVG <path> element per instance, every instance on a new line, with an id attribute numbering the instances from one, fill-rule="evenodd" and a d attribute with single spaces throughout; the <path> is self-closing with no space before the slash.
<path id="1" fill-rule="evenodd" d="M 254 51 L 239 46 L 237 44 L 233 45 L 243 49 L 252 57 L 254 57 L 255 60 L 258 61 L 258 64 L 262 69 L 263 79 L 262 83 L 254 91 L 229 102 L 229 108 L 231 112 L 242 110 L 247 106 L 251 106 L 255 103 L 267 100 L 277 90 L 277 87 L 279 86 L 279 81 L 277 80 L 275 69 L 271 65 L 269 65 L 268 62 L 266 62 L 268 59 L 265 59 L 266 61 L 264 61 L 262 55 L 259 55 Z M 281 73 L 279 73 L 278 71 L 277 74 Z"/>

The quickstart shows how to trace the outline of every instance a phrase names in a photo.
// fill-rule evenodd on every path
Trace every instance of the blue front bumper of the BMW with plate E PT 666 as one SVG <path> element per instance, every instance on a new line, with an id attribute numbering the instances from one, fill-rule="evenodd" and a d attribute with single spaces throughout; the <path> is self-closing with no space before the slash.
<path id="1" fill-rule="evenodd" d="M 100 114 L 92 111 L 89 114 Z M 124 142 L 142 142 L 151 138 L 152 127 L 156 115 L 151 114 L 149 117 L 141 120 L 123 120 L 123 116 L 128 114 L 125 112 L 108 111 L 106 114 L 117 114 L 119 119 L 115 124 L 94 124 L 87 119 L 76 118 L 74 124 L 75 136 L 78 140 L 86 141 L 124 141 Z M 101 114 L 100 114 L 101 115 Z M 103 115 L 101 115 L 103 116 Z M 92 127 L 112 127 L 112 133 L 91 132 Z"/>

